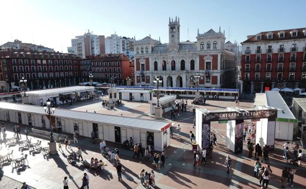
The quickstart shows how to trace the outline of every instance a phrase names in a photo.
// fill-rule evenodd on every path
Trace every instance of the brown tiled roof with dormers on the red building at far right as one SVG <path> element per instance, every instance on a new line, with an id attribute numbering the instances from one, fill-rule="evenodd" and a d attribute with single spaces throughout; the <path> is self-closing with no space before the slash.
<path id="1" fill-rule="evenodd" d="M 291 37 L 290 31 L 292 30 L 298 30 L 298 35 L 296 37 Z M 276 30 L 276 31 L 264 31 L 260 32 L 258 34 L 261 34 L 261 39 L 257 39 L 257 35 L 254 35 L 250 39 L 245 40 L 242 43 L 254 43 L 254 42 L 267 42 L 267 41 L 283 41 L 283 40 L 291 40 L 291 39 L 306 39 L 306 35 L 304 35 L 303 31 L 306 30 L 306 28 L 295 28 L 295 29 L 285 29 L 285 30 Z M 279 32 L 284 31 L 285 36 L 279 37 Z M 272 39 L 268 39 L 267 33 L 272 32 L 273 37 Z"/>

